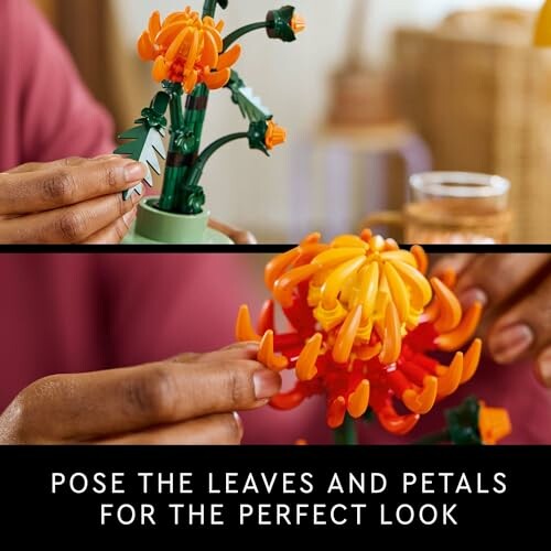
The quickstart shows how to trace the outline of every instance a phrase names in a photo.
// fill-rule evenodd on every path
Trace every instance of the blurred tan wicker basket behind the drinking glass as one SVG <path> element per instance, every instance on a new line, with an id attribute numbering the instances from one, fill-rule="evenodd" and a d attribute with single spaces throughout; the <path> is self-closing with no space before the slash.
<path id="1" fill-rule="evenodd" d="M 507 177 L 511 239 L 550 242 L 551 51 L 531 47 L 532 22 L 529 12 L 485 10 L 431 32 L 400 29 L 398 89 L 435 169 Z"/>

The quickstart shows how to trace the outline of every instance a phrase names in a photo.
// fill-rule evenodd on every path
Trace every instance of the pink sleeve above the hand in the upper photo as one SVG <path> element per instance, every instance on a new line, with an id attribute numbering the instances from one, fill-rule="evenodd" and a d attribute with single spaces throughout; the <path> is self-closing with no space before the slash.
<path id="1" fill-rule="evenodd" d="M 112 151 L 112 123 L 28 0 L 0 1 L 0 172 Z"/>

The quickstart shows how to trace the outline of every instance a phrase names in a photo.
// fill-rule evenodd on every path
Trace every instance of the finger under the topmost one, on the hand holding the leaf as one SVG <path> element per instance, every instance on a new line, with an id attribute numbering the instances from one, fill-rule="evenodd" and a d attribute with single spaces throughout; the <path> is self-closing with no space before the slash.
<path id="1" fill-rule="evenodd" d="M 0 241 L 11 244 L 85 242 L 130 213 L 140 199 L 133 194 L 125 201 L 122 194 L 117 193 L 69 207 L 4 220 L 0 225 Z M 112 234 L 112 229 L 108 231 Z M 117 226 L 115 230 L 122 231 L 122 228 Z"/>

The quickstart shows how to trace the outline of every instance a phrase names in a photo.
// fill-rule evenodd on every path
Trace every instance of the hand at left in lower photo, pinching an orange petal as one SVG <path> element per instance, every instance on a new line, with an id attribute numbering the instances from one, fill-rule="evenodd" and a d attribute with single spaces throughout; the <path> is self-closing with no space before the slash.
<path id="1" fill-rule="evenodd" d="M 245 344 L 46 377 L 0 415 L 0 443 L 238 444 L 242 425 L 235 412 L 264 406 L 281 387 L 257 354 L 257 345 Z"/>

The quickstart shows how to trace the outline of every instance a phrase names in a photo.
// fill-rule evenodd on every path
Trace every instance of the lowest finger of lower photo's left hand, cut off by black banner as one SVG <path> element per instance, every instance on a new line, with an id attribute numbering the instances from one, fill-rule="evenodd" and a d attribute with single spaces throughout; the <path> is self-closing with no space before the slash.
<path id="1" fill-rule="evenodd" d="M 208 415 L 186 423 L 108 439 L 108 445 L 237 445 L 244 435 L 237 413 Z"/>

